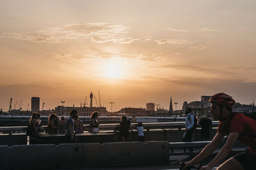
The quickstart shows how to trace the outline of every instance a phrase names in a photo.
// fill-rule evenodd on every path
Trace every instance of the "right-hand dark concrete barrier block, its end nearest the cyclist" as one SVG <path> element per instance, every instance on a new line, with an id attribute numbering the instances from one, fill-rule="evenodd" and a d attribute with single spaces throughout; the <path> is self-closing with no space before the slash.
<path id="1" fill-rule="evenodd" d="M 168 163 L 168 141 L 84 144 L 86 167 Z"/>

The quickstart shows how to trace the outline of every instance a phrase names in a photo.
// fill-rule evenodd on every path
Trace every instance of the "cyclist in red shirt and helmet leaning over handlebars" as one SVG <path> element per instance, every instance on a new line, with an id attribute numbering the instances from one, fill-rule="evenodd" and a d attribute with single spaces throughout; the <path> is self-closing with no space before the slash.
<path id="1" fill-rule="evenodd" d="M 225 159 L 230 150 L 232 150 L 237 139 L 249 146 L 248 150 L 226 160 L 218 167 L 218 170 L 256 169 L 256 120 L 247 117 L 242 113 L 232 112 L 235 101 L 231 96 L 228 96 L 225 93 L 214 94 L 209 102 L 211 102 L 212 116 L 217 120 L 220 120 L 218 131 L 211 143 L 205 146 L 202 152 L 189 162 L 185 162 L 184 169 L 198 164 L 201 160 L 211 155 L 211 153 L 218 148 L 218 145 L 220 145 L 221 139 L 227 134 L 229 134 L 227 142 L 221 148 L 220 152 L 211 160 L 211 162 L 209 162 L 209 164 L 201 167 L 201 170 L 212 169 L 219 164 L 221 160 Z"/>

